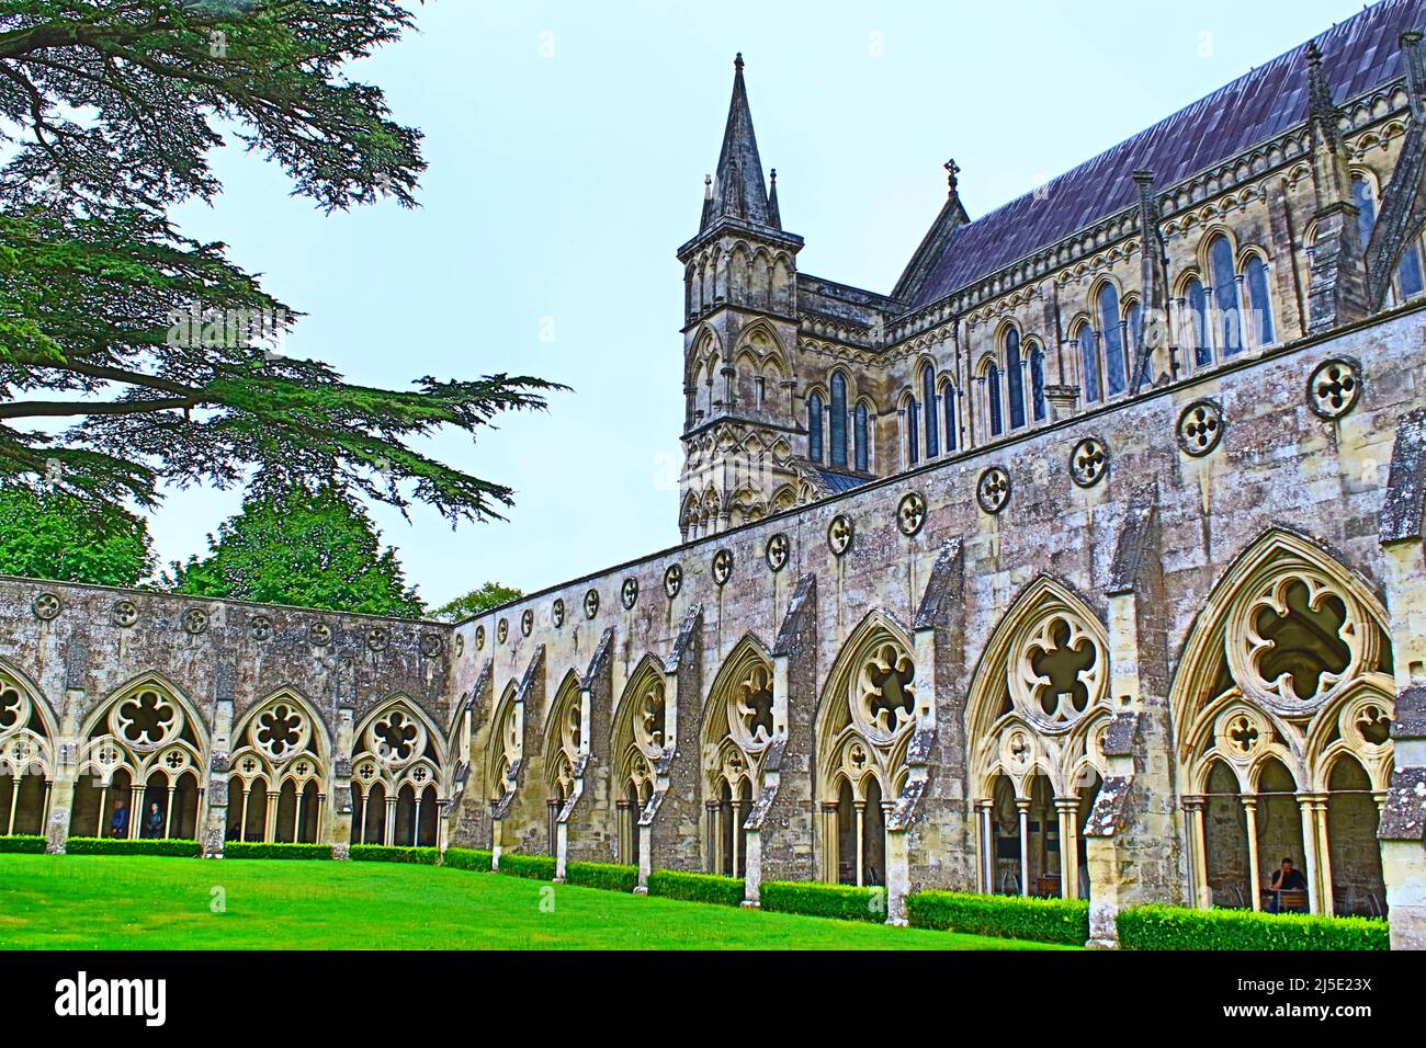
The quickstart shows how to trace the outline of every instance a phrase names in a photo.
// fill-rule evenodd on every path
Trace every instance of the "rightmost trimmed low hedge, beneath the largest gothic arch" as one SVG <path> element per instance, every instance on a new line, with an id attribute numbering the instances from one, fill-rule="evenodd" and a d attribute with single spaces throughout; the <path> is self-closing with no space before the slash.
<path id="1" fill-rule="evenodd" d="M 1117 920 L 1124 950 L 1390 950 L 1386 921 L 1141 905 Z"/>

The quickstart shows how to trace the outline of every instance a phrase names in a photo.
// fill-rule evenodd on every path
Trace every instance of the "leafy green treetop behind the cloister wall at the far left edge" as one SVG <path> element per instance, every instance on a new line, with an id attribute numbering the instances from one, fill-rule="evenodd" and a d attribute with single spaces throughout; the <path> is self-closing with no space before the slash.
<path id="1" fill-rule="evenodd" d="M 153 570 L 141 518 L 58 490 L 0 485 L 0 575 L 134 586 Z"/>

